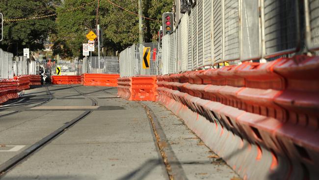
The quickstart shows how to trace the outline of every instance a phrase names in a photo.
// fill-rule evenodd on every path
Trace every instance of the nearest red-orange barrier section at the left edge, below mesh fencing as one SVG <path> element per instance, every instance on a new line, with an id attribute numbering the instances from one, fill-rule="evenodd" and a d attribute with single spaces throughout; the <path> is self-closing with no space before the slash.
<path id="1" fill-rule="evenodd" d="M 0 80 L 0 104 L 19 98 L 17 80 Z"/>

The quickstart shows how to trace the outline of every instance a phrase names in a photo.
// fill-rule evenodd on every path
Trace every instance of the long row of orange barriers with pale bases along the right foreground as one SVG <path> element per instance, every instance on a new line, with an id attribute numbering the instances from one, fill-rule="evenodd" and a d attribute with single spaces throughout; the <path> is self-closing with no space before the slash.
<path id="1" fill-rule="evenodd" d="M 319 179 L 319 58 L 158 77 L 158 102 L 244 179 Z"/>

